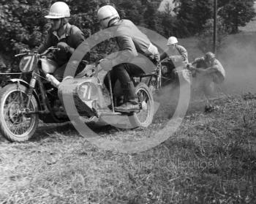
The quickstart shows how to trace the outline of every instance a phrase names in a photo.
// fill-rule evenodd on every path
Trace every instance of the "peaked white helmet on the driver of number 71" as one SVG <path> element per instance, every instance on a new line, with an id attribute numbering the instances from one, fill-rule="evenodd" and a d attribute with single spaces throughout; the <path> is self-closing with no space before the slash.
<path id="1" fill-rule="evenodd" d="M 69 6 L 62 2 L 57 1 L 50 7 L 50 12 L 45 15 L 45 18 L 67 18 L 70 17 Z"/>

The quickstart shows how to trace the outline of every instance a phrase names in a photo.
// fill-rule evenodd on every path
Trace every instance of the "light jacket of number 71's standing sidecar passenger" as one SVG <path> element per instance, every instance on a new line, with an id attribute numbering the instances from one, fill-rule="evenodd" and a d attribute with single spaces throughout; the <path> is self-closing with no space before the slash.
<path id="1" fill-rule="evenodd" d="M 113 27 L 116 28 L 116 42 L 121 51 L 115 57 L 116 64 L 130 62 L 138 56 L 138 53 L 150 59 L 159 57 L 157 47 L 132 21 L 119 20 Z"/>

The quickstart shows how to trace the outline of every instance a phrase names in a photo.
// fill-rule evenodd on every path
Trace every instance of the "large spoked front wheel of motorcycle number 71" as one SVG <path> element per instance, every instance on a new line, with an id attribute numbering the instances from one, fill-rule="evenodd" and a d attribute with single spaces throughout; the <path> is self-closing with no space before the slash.
<path id="1" fill-rule="evenodd" d="M 23 85 L 9 84 L 0 91 L 0 131 L 7 140 L 23 142 L 29 140 L 37 129 L 38 114 L 26 114 L 37 111 L 37 100 L 32 95 L 29 107 L 28 88 Z"/>

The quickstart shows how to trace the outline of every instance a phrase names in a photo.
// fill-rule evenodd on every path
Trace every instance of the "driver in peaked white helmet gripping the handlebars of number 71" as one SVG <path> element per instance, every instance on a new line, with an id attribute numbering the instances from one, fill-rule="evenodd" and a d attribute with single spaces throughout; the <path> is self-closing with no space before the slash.
<path id="1" fill-rule="evenodd" d="M 69 17 L 70 11 L 66 3 L 57 1 L 50 7 L 50 11 L 45 18 L 51 20 L 51 28 L 48 31 L 45 42 L 38 50 L 39 53 L 42 53 L 51 46 L 60 48 L 55 53 L 54 58 L 59 68 L 53 74 L 59 80 L 63 78 L 70 56 L 78 48 L 78 45 L 85 40 L 83 32 L 78 27 L 68 23 Z"/>

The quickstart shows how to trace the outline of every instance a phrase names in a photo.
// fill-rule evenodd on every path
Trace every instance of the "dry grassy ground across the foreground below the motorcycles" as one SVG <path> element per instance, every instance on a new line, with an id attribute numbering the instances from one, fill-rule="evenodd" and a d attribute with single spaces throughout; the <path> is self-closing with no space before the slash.
<path id="1" fill-rule="evenodd" d="M 175 135 L 140 154 L 94 148 L 69 124 L 41 128 L 29 143 L 2 140 L 0 201 L 254 203 L 255 96 L 215 102 L 219 110 L 192 111 Z"/>

